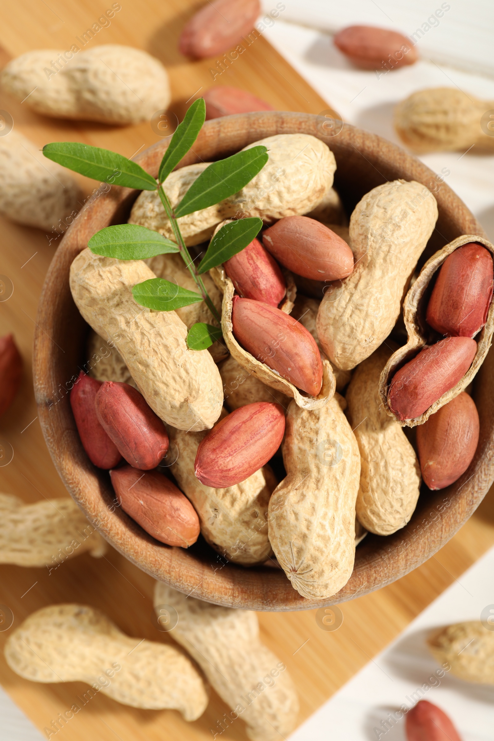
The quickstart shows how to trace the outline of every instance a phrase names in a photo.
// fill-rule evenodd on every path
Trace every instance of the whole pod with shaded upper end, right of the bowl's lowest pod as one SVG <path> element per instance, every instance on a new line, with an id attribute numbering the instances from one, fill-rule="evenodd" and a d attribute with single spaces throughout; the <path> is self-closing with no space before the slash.
<path id="1" fill-rule="evenodd" d="M 379 398 L 379 376 L 389 356 L 385 347 L 375 350 L 356 368 L 346 395 L 361 459 L 357 517 L 364 528 L 378 535 L 403 528 L 420 493 L 415 451 Z"/>

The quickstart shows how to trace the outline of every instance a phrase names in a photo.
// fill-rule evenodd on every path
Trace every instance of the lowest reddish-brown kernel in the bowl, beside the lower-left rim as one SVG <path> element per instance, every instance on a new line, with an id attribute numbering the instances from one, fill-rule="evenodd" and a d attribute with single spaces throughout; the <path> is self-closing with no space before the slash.
<path id="1" fill-rule="evenodd" d="M 153 538 L 182 548 L 196 542 L 200 532 L 196 510 L 170 479 L 130 465 L 113 469 L 110 477 L 123 511 Z"/>

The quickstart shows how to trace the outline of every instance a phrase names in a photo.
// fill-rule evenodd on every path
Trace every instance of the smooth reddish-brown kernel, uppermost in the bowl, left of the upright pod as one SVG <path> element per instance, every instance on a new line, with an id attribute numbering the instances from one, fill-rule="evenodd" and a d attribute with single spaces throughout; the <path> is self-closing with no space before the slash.
<path id="1" fill-rule="evenodd" d="M 307 216 L 286 216 L 264 232 L 264 247 L 303 278 L 338 280 L 353 271 L 353 252 L 335 232 Z"/>

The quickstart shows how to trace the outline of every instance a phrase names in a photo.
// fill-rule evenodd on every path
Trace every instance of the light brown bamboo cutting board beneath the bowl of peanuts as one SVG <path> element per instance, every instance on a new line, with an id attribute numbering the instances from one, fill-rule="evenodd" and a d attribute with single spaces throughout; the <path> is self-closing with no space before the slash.
<path id="1" fill-rule="evenodd" d="M 161 59 L 170 73 L 172 127 L 173 113 L 181 119 L 187 100 L 212 84 L 230 84 L 250 90 L 278 110 L 320 113 L 328 109 L 327 102 L 262 36 L 221 74 L 216 60 L 189 62 L 184 59 L 177 50 L 178 35 L 198 4 L 201 2 L 195 0 L 122 3 L 110 26 L 102 27 L 87 45 L 127 44 Z M 36 48 L 70 48 L 79 43 L 76 39 L 84 38 L 87 29 L 97 24 L 101 13 L 111 6 L 110 2 L 101 6 L 96 0 L 77 4 L 63 0 L 50 0 L 48 4 L 44 0 L 19 0 L 8 5 L 2 1 L 0 44 L 4 53 L 0 64 L 3 66 L 8 59 Z M 124 128 L 63 122 L 31 113 L 25 105 L 6 96 L 0 97 L 0 109 L 7 110 L 13 116 L 14 126 L 40 147 L 47 142 L 72 140 L 107 147 L 130 157 L 158 141 L 158 133 L 149 122 Z M 92 181 L 83 178 L 81 183 L 87 193 L 94 187 Z M 0 273 L 13 284 L 12 296 L 0 302 L 0 334 L 13 332 L 24 358 L 21 392 L 0 420 L 0 442 L 8 442 L 14 452 L 12 462 L 0 468 L 0 491 L 17 494 L 25 502 L 36 502 L 44 497 L 67 496 L 36 419 L 30 372 L 36 307 L 44 274 L 59 240 L 55 239 L 56 235 L 47 236 L 40 230 L 13 225 L 6 219 L 0 219 L 0 229 Z M 262 639 L 285 662 L 296 682 L 301 698 L 300 722 L 316 711 L 493 544 L 494 492 L 491 491 L 470 522 L 421 568 L 379 592 L 341 605 L 344 622 L 338 631 L 321 630 L 316 622 L 316 611 L 259 614 Z M 136 642 L 141 638 L 171 642 L 173 634 L 159 631 L 152 594 L 153 579 L 112 549 L 102 559 L 84 554 L 51 572 L 0 567 L 0 605 L 7 605 L 13 611 L 14 628 L 27 615 L 46 605 L 81 602 L 107 613 L 124 632 L 136 637 Z M 8 635 L 9 631 L 0 631 L 1 647 Z M 77 697 L 87 691 L 87 685 L 79 682 L 41 685 L 24 681 L 10 671 L 3 653 L 0 653 L 0 683 L 41 731 L 79 702 Z M 56 737 L 65 741 L 87 741 L 88 738 L 94 741 L 113 738 L 121 741 L 168 738 L 203 741 L 220 734 L 224 728 L 221 719 L 227 711 L 227 706 L 213 692 L 203 717 L 187 724 L 176 711 L 140 711 L 98 694 Z M 238 741 L 247 738 L 241 720 L 221 735 Z"/>

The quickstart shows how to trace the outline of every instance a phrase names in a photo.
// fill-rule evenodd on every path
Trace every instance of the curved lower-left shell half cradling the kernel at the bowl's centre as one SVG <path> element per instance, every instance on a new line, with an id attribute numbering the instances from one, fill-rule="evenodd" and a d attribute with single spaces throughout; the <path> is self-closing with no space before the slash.
<path id="1" fill-rule="evenodd" d="M 298 391 L 298 388 L 292 383 L 282 378 L 279 373 L 268 368 L 265 363 L 257 360 L 247 350 L 238 344 L 233 336 L 232 324 L 232 302 L 235 289 L 230 278 L 224 280 L 223 306 L 221 309 L 221 328 L 223 330 L 223 339 L 230 350 L 231 356 L 242 366 L 248 373 L 255 376 L 262 383 L 270 386 L 275 391 L 281 391 L 286 396 L 296 400 L 296 403 L 306 409 L 317 409 L 331 399 L 335 393 L 336 380 L 333 374 L 329 360 L 322 359 L 323 375 L 322 388 L 318 396 L 309 396 L 308 394 Z"/>

